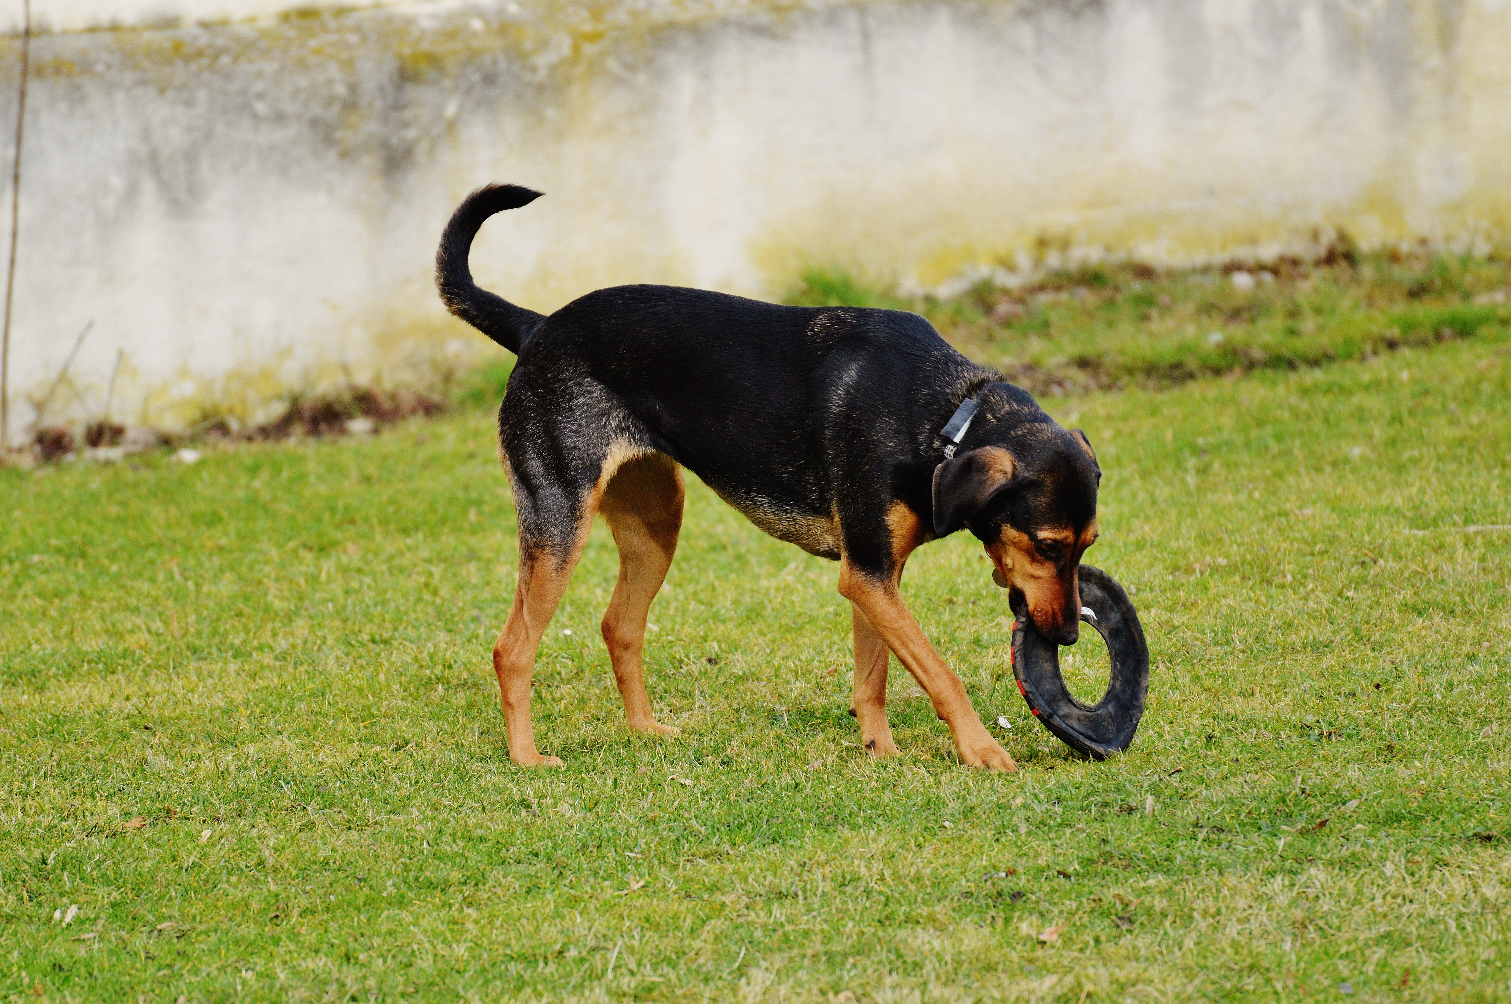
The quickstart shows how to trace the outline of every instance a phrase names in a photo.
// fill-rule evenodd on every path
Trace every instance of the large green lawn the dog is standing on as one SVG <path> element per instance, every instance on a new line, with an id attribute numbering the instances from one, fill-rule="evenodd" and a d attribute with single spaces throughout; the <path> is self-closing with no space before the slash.
<path id="1" fill-rule="evenodd" d="M 920 551 L 1015 776 L 898 670 L 867 761 L 836 566 L 697 485 L 647 652 L 681 737 L 620 723 L 598 527 L 536 676 L 567 767 L 512 767 L 485 411 L 3 470 L 0 999 L 1503 1001 L 1506 402 L 1493 328 L 1049 399 L 1154 672 L 1133 749 L 1073 759 L 979 545 Z"/>

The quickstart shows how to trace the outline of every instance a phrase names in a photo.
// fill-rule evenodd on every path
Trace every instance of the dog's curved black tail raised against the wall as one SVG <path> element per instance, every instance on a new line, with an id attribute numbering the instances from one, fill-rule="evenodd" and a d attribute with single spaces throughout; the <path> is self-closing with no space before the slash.
<path id="1" fill-rule="evenodd" d="M 482 186 L 462 199 L 452 213 L 441 234 L 441 246 L 435 252 L 435 287 L 441 291 L 446 310 L 515 355 L 545 317 L 479 288 L 473 282 L 471 269 L 467 267 L 467 252 L 485 219 L 503 210 L 529 205 L 539 196 L 539 192 L 518 184 Z"/>

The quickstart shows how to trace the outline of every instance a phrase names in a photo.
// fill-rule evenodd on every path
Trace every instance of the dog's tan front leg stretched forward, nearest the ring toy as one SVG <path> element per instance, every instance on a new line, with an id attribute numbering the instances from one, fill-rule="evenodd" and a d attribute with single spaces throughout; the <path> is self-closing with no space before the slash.
<path id="1" fill-rule="evenodd" d="M 913 619 L 913 613 L 902 602 L 898 584 L 890 577 L 878 578 L 863 572 L 845 557 L 840 560 L 840 595 L 855 604 L 855 611 L 864 614 L 876 636 L 898 654 L 898 660 L 923 687 L 934 704 L 934 713 L 949 726 L 961 762 L 988 770 L 1015 771 L 1018 768 L 1008 752 L 987 732 L 987 726 L 981 723 L 981 716 L 976 714 L 966 694 L 966 684 L 923 636 L 923 630 L 919 628 L 919 622 Z M 855 637 L 858 670 L 858 627 Z M 860 717 L 860 710 L 855 714 Z"/>

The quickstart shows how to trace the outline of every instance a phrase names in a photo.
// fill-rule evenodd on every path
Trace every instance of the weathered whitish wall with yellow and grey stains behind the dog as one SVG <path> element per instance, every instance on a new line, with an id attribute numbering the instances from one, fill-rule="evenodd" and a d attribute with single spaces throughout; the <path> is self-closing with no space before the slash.
<path id="1" fill-rule="evenodd" d="M 57 2 L 71 27 L 104 3 Z M 0 57 L 8 122 L 15 39 Z M 51 32 L 12 427 L 91 320 L 53 417 L 98 411 L 118 358 L 116 415 L 183 424 L 482 350 L 431 258 L 487 180 L 547 192 L 473 252 L 536 310 L 638 281 L 772 296 L 805 263 L 935 285 L 1044 248 L 1263 255 L 1333 226 L 1485 245 L 1511 234 L 1508 98 L 1508 0 L 539 0 Z"/>

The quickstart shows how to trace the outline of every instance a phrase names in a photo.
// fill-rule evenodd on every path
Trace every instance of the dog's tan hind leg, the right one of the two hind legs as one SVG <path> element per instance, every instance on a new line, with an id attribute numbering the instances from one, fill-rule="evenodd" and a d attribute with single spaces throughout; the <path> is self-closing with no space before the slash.
<path id="1" fill-rule="evenodd" d="M 620 547 L 620 581 L 603 614 L 603 642 L 624 699 L 624 720 L 636 732 L 677 734 L 651 713 L 642 652 L 645 617 L 677 551 L 683 497 L 681 468 L 653 454 L 624 464 L 598 506 Z"/>

